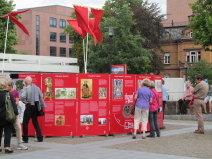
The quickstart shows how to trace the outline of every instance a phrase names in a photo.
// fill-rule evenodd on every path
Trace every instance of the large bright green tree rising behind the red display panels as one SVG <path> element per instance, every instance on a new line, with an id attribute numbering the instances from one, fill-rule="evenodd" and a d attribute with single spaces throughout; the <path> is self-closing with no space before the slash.
<path id="1" fill-rule="evenodd" d="M 122 3 L 122 0 L 116 2 L 116 6 L 112 8 L 110 5 L 113 1 L 107 1 L 105 4 L 105 14 L 101 23 L 102 30 L 104 30 L 104 42 L 96 47 L 90 44 L 89 71 L 108 73 L 110 70 L 109 54 L 112 52 L 112 64 L 127 64 L 128 73 L 148 73 L 151 54 L 148 49 L 143 48 L 144 39 L 139 32 L 133 34 L 131 31 L 135 25 L 133 12 L 128 4 Z M 106 28 L 108 26 L 116 27 L 113 37 L 108 36 Z M 112 46 L 110 40 L 112 40 Z"/>

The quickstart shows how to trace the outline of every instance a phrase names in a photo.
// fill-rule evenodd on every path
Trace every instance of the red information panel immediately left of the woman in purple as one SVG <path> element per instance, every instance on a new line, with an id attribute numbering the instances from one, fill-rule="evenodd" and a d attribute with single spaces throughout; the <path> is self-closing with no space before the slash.
<path id="1" fill-rule="evenodd" d="M 134 118 L 130 106 L 134 103 L 135 76 L 111 75 L 110 134 L 133 131 Z"/>

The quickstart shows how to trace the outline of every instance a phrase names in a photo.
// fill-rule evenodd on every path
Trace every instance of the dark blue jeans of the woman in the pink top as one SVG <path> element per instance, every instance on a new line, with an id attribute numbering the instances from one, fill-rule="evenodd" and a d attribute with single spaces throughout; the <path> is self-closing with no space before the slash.
<path id="1" fill-rule="evenodd" d="M 150 120 L 150 135 L 155 136 L 155 130 L 157 135 L 160 135 L 160 128 L 158 124 L 158 111 L 149 111 Z"/>

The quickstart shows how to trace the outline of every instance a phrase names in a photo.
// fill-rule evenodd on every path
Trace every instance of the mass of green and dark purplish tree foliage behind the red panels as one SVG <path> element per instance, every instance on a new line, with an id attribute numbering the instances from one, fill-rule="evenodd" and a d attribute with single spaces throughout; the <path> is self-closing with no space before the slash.
<path id="1" fill-rule="evenodd" d="M 128 73 L 159 73 L 161 61 L 153 51 L 159 45 L 163 30 L 163 16 L 159 12 L 156 4 L 145 0 L 107 0 L 101 22 L 103 42 L 93 46 L 89 35 L 88 72 L 108 73 L 111 54 L 112 64 L 127 64 Z M 116 27 L 112 38 L 108 36 L 108 26 Z M 65 32 L 74 36 L 75 57 L 82 72 L 82 39 L 70 28 Z"/>

